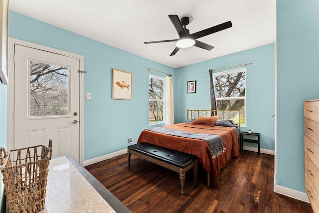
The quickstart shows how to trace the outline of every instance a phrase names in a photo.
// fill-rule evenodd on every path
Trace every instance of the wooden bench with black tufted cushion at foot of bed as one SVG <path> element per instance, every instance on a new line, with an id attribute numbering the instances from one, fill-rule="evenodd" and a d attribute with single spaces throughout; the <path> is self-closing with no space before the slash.
<path id="1" fill-rule="evenodd" d="M 179 173 L 180 193 L 184 194 L 185 173 L 193 168 L 194 180 L 197 179 L 197 156 L 176 150 L 160 147 L 149 143 L 139 143 L 128 146 L 128 163 L 131 154 L 150 161 L 161 167 Z"/>

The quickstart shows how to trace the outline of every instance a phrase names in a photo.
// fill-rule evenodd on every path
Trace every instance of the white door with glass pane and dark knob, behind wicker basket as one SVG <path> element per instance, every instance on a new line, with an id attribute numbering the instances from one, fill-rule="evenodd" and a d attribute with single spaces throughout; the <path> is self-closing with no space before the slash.
<path id="1" fill-rule="evenodd" d="M 79 59 L 14 44 L 14 149 L 48 145 L 79 161 Z"/>

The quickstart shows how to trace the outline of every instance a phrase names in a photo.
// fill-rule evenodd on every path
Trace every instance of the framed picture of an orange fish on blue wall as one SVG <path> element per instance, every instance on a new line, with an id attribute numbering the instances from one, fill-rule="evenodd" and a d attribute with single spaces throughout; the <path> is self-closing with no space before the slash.
<path id="1" fill-rule="evenodd" d="M 132 100 L 132 73 L 113 68 L 112 99 Z"/>

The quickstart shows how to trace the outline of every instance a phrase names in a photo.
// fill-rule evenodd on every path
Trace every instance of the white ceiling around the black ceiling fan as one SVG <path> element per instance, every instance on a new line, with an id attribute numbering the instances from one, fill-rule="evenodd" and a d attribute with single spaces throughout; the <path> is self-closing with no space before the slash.
<path id="1" fill-rule="evenodd" d="M 276 41 L 276 0 L 9 0 L 9 8 L 57 27 L 177 68 Z M 169 54 L 177 39 L 168 14 L 193 16 L 190 33 L 231 20 L 233 27 Z"/>

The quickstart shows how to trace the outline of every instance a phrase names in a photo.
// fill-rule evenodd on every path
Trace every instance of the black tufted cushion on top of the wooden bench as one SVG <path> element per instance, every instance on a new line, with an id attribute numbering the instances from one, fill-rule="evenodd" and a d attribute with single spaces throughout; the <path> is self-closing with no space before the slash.
<path id="1" fill-rule="evenodd" d="M 195 155 L 179 152 L 176 150 L 160 147 L 149 143 L 134 144 L 128 146 L 128 149 L 148 155 L 150 157 L 177 166 L 179 168 L 185 168 L 191 162 L 197 160 L 197 156 Z"/>

